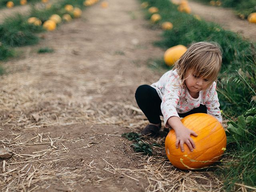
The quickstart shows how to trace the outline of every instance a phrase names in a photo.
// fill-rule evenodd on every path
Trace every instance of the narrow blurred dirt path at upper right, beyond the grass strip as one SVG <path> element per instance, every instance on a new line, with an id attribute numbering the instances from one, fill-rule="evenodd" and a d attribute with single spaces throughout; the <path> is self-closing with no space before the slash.
<path id="1" fill-rule="evenodd" d="M 224 29 L 237 32 L 256 42 L 256 24 L 241 20 L 232 9 L 207 6 L 192 0 L 189 1 L 189 5 L 193 14 L 198 14 L 206 21 L 219 23 Z"/>

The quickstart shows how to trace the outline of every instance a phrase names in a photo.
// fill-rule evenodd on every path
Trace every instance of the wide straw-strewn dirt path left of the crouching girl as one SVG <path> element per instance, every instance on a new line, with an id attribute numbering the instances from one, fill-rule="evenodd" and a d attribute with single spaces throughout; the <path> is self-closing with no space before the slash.
<path id="1" fill-rule="evenodd" d="M 134 154 L 121 137 L 147 123 L 137 86 L 162 75 L 146 66 L 164 52 L 146 25 L 136 0 L 109 0 L 4 63 L 0 144 L 14 155 L 0 160 L 1 191 L 221 191 L 212 172 L 176 170 L 164 147 Z M 54 53 L 36 53 L 46 46 Z"/>

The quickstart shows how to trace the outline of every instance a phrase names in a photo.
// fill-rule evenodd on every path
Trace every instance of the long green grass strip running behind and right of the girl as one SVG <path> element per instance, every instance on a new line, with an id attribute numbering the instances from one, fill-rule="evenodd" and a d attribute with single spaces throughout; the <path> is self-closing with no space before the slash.
<path id="1" fill-rule="evenodd" d="M 144 2 L 144 1 L 141 1 Z M 256 46 L 241 36 L 221 28 L 218 24 L 197 20 L 194 16 L 178 12 L 177 5 L 168 0 L 148 0 L 156 6 L 162 20 L 172 22 L 173 29 L 164 31 L 156 46 L 167 49 L 177 44 L 189 46 L 193 42 L 214 41 L 223 50 L 222 70 L 218 77 L 218 95 L 223 116 L 230 120 L 227 151 L 220 169 L 216 170 L 228 191 L 239 184 L 256 186 Z M 171 10 L 171 11 L 170 11 Z M 145 9 L 146 18 L 151 14 Z M 158 60 L 156 66 L 164 66 Z M 170 68 L 169 68 L 170 69 Z M 249 189 L 250 190 L 250 189 Z"/>

